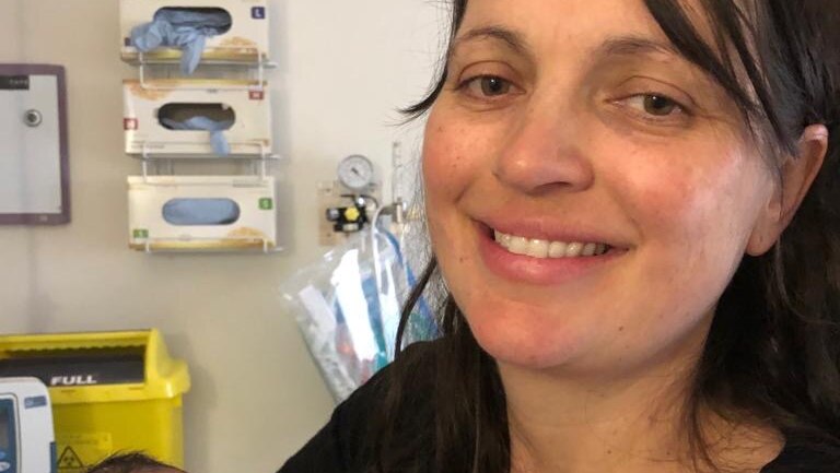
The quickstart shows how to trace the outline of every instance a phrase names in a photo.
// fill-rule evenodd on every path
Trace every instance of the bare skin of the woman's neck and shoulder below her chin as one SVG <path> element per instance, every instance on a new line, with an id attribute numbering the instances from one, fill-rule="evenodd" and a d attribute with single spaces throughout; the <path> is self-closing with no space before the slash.
<path id="1" fill-rule="evenodd" d="M 585 377 L 499 363 L 512 472 L 707 471 L 702 461 L 695 469 L 690 435 L 698 358 L 687 350 L 665 363 Z M 783 442 L 772 428 L 724 421 L 702 406 L 697 418 L 712 460 L 737 472 L 760 471 Z"/>

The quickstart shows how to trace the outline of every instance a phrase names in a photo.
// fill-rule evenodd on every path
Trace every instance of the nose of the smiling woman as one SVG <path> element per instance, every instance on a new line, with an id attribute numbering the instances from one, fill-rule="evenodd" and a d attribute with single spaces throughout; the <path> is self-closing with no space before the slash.
<path id="1" fill-rule="evenodd" d="M 529 194 L 580 191 L 592 186 L 592 163 L 574 114 L 555 107 L 530 109 L 511 129 L 497 155 L 493 175 L 505 186 Z"/>

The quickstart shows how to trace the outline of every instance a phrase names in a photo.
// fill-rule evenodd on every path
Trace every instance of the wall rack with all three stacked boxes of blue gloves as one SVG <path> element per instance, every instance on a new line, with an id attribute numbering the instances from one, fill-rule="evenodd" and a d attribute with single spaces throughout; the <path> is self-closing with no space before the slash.
<path id="1" fill-rule="evenodd" d="M 268 162 L 278 156 L 264 80 L 276 66 L 267 7 L 267 0 L 120 0 L 121 58 L 138 66 L 138 78 L 122 82 L 125 152 L 142 165 L 142 176 L 128 178 L 130 248 L 280 249 L 268 177 Z M 182 76 L 171 66 L 178 62 Z M 172 175 L 176 161 L 226 169 Z M 171 175 L 156 175 L 161 169 Z"/>

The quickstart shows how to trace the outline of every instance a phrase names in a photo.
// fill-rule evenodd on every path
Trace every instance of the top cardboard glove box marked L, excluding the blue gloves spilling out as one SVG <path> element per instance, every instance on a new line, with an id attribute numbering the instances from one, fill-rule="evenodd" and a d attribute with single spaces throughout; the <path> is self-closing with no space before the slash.
<path id="1" fill-rule="evenodd" d="M 205 39 L 202 62 L 262 62 L 268 59 L 267 0 L 120 0 L 120 35 L 122 60 L 140 62 L 140 51 L 132 45 L 131 31 L 152 22 L 165 21 L 167 13 L 203 12 L 219 14 L 223 26 Z M 190 24 L 201 29 L 201 24 Z M 142 54 L 145 62 L 177 62 L 180 49 L 160 47 Z"/>

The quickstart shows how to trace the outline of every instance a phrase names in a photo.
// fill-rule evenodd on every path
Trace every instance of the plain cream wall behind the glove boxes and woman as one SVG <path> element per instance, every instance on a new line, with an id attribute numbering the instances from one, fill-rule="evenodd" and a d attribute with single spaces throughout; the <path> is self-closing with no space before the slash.
<path id="1" fill-rule="evenodd" d="M 208 1 L 214 3 L 217 0 Z M 223 0 L 218 0 L 223 1 Z M 271 0 L 277 151 L 289 249 L 147 256 L 127 249 L 117 0 L 0 0 L 0 62 L 67 67 L 72 223 L 0 227 L 0 332 L 156 327 L 189 363 L 187 469 L 271 472 L 332 401 L 276 285 L 315 259 L 316 182 L 362 153 L 387 172 L 412 134 L 394 111 L 425 91 L 445 24 L 430 0 Z M 409 138 L 406 138 L 408 135 Z"/>

